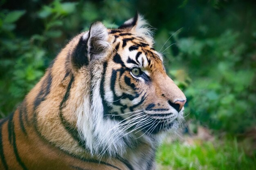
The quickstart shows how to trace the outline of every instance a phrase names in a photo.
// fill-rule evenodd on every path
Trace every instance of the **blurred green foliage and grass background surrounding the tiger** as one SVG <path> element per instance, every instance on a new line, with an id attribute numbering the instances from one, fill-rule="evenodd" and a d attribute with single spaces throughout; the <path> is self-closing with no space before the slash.
<path id="1" fill-rule="evenodd" d="M 136 10 L 156 28 L 155 49 L 188 101 L 158 169 L 255 170 L 255 0 L 0 0 L 0 117 L 70 38 L 97 20 L 117 28 Z"/>

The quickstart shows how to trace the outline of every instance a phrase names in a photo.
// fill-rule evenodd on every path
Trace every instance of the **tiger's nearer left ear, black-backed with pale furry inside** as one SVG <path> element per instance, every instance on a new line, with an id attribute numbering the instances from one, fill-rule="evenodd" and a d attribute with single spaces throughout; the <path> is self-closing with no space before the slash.
<path id="1" fill-rule="evenodd" d="M 88 65 L 90 61 L 104 56 L 108 47 L 108 31 L 101 22 L 94 22 L 90 31 L 81 36 L 72 53 L 72 65 L 75 68 Z"/>

